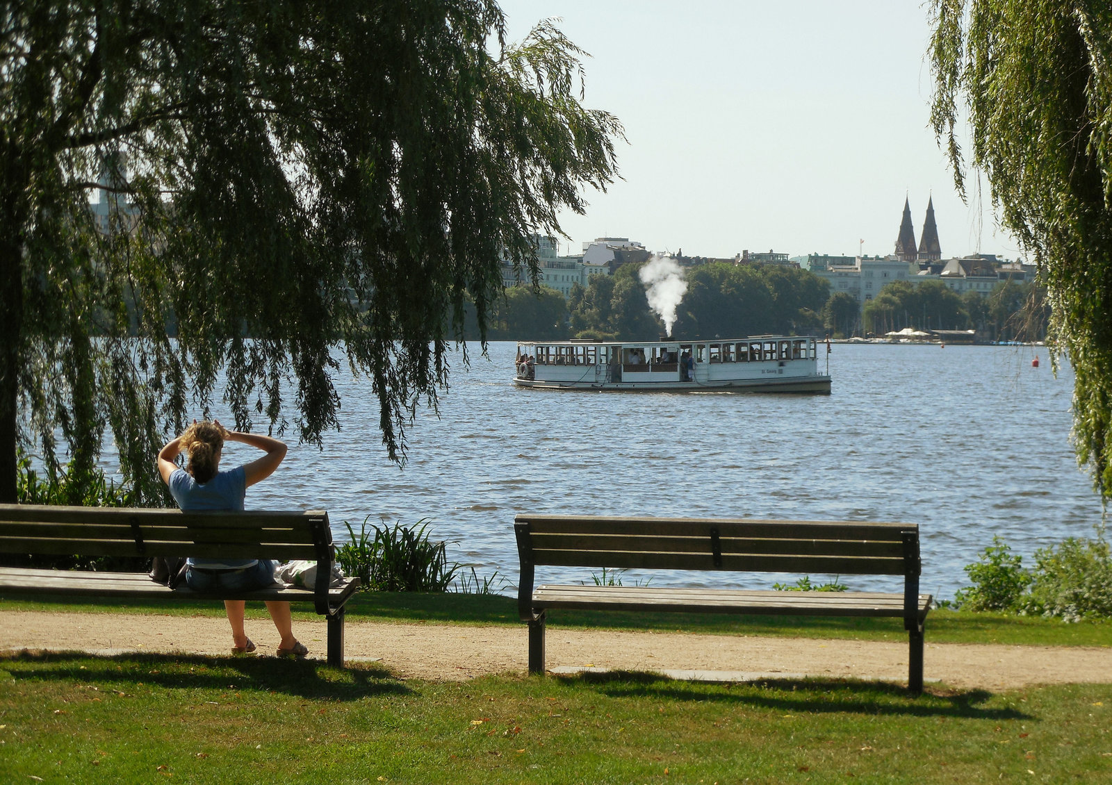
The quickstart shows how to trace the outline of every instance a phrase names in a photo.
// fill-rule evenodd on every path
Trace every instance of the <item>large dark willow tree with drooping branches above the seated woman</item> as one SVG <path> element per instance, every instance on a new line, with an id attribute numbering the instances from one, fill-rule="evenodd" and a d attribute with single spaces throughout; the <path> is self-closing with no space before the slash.
<path id="1" fill-rule="evenodd" d="M 80 481 L 108 429 L 155 500 L 218 396 L 319 443 L 345 366 L 404 460 L 465 294 L 485 325 L 615 176 L 582 57 L 494 0 L 0 3 L 0 500 L 18 445 Z"/>

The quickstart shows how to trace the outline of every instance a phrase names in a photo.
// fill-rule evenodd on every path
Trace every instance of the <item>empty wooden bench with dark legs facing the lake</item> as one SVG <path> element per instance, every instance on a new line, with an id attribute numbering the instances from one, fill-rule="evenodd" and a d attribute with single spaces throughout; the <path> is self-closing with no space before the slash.
<path id="1" fill-rule="evenodd" d="M 817 520 L 666 519 L 518 515 L 518 612 L 529 625 L 529 673 L 545 672 L 545 619 L 554 608 L 903 618 L 907 686 L 923 690 L 919 526 Z M 614 569 L 903 576 L 902 594 L 654 586 L 542 585 L 538 566 Z"/>

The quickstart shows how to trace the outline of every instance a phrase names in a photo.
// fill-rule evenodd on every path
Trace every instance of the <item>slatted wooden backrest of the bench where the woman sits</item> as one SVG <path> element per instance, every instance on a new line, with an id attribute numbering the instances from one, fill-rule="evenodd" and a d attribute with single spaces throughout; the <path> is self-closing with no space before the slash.
<path id="1" fill-rule="evenodd" d="M 0 553 L 332 560 L 324 510 L 182 513 L 178 509 L 0 505 Z"/>

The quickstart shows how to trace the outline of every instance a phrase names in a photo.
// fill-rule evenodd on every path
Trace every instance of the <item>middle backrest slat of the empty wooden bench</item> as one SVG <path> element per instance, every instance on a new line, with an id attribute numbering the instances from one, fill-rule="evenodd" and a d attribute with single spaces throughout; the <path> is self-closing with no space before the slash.
<path id="1" fill-rule="evenodd" d="M 626 553 L 711 553 L 711 536 L 532 533 L 536 550 L 616 550 Z M 903 543 L 875 539 L 801 539 L 797 537 L 719 537 L 725 554 L 800 556 L 880 556 L 903 558 Z"/>

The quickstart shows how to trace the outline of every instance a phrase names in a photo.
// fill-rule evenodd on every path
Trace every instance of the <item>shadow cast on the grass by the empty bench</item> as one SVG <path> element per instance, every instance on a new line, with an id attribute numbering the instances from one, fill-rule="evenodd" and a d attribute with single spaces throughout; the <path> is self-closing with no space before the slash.
<path id="1" fill-rule="evenodd" d="M 1015 708 L 983 704 L 993 693 L 927 686 L 923 695 L 891 682 L 845 678 L 762 678 L 754 682 L 684 682 L 644 670 L 610 670 L 549 676 L 564 684 L 579 684 L 608 697 L 666 697 L 701 703 L 736 703 L 778 712 L 813 714 L 867 714 L 969 719 L 1033 719 Z"/>

